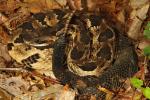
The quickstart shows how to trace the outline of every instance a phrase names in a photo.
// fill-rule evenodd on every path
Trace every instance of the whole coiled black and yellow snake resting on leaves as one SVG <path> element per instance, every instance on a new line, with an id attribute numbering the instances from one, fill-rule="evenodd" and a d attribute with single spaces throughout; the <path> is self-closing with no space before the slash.
<path id="1" fill-rule="evenodd" d="M 108 97 L 138 71 L 134 42 L 111 17 L 89 11 L 53 9 L 31 14 L 11 30 L 10 56 L 27 68 L 77 90 L 77 100 Z"/>

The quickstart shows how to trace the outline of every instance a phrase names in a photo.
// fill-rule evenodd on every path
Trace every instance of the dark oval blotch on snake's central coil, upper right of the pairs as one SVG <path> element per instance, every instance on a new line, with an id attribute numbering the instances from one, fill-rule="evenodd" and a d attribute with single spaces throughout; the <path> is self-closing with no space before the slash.
<path id="1" fill-rule="evenodd" d="M 112 38 L 113 35 L 114 35 L 113 31 L 107 28 L 104 32 L 100 33 L 98 41 L 99 42 L 107 41 L 108 39 Z"/>

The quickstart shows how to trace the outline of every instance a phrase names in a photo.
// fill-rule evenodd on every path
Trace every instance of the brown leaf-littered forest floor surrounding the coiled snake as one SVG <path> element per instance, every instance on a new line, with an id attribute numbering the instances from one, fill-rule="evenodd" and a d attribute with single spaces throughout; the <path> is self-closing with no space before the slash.
<path id="1" fill-rule="evenodd" d="M 146 100 L 143 88 L 150 87 L 150 1 L 149 0 L 0 0 L 0 100 L 74 100 L 76 91 L 53 83 L 49 77 L 29 72 L 11 58 L 7 50 L 8 30 L 29 13 L 50 9 L 105 9 L 122 24 L 121 30 L 136 43 L 139 71 L 128 79 L 127 89 L 115 100 Z M 18 20 L 15 21 L 15 20 Z M 139 80 L 138 80 L 139 79 Z M 140 82 L 139 82 L 140 81 Z M 142 84 L 142 89 L 134 85 Z M 91 98 L 95 100 L 95 98 Z"/>

